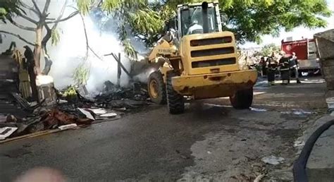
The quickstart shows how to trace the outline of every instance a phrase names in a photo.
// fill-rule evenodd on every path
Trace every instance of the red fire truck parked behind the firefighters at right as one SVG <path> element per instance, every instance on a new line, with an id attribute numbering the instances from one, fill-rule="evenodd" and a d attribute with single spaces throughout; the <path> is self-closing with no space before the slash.
<path id="1" fill-rule="evenodd" d="M 285 54 L 296 53 L 299 62 L 299 72 L 319 73 L 320 64 L 316 54 L 314 39 L 282 40 L 281 49 Z"/>

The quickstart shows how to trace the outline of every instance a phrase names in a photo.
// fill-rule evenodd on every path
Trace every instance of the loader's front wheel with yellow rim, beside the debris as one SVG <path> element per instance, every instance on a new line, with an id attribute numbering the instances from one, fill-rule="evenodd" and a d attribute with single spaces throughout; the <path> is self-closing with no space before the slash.
<path id="1" fill-rule="evenodd" d="M 166 104 L 166 85 L 163 83 L 163 77 L 159 71 L 154 71 L 149 75 L 147 88 L 152 102 Z"/>

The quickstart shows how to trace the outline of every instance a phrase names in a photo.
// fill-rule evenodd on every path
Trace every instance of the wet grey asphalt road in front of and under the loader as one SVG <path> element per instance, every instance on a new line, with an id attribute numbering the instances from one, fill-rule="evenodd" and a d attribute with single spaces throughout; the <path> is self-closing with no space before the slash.
<path id="1" fill-rule="evenodd" d="M 260 80 L 256 87 L 249 110 L 235 110 L 224 98 L 192 102 L 181 115 L 153 105 L 117 121 L 5 143 L 0 181 L 37 166 L 58 169 L 71 181 L 238 181 L 288 169 L 293 142 L 326 107 L 325 84 L 314 78 L 266 87 Z M 284 164 L 263 164 L 261 157 L 271 154 Z"/>

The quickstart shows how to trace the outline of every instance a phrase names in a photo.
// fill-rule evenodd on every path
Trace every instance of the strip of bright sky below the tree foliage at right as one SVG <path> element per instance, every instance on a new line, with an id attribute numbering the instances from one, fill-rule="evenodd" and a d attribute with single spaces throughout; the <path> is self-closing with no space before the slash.
<path id="1" fill-rule="evenodd" d="M 284 30 L 280 31 L 279 37 L 272 37 L 271 35 L 265 35 L 262 37 L 262 43 L 261 44 L 256 44 L 254 42 L 247 42 L 246 44 L 243 44 L 241 47 L 242 48 L 250 48 L 250 47 L 261 47 L 265 44 L 280 44 L 280 41 L 287 38 L 287 37 L 292 37 L 294 40 L 299 40 L 304 38 L 312 38 L 313 35 L 317 32 L 323 32 L 325 30 L 333 29 L 334 28 L 334 0 L 327 0 L 328 1 L 328 6 L 331 11 L 333 11 L 333 15 L 329 18 L 325 18 L 328 22 L 328 25 L 326 28 L 316 28 L 316 29 L 308 29 L 308 28 L 303 28 L 303 27 L 298 27 L 292 30 L 291 32 L 285 32 Z"/>

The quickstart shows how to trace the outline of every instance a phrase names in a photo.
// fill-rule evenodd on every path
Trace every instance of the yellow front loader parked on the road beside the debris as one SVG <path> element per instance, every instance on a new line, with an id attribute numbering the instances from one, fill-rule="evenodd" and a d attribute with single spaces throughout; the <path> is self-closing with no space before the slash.
<path id="1" fill-rule="evenodd" d="M 159 40 L 149 62 L 160 63 L 149 75 L 153 102 L 183 113 L 184 96 L 193 99 L 230 97 L 236 109 L 252 105 L 255 70 L 241 70 L 233 32 L 222 30 L 218 2 L 178 6 L 175 26 Z"/>

